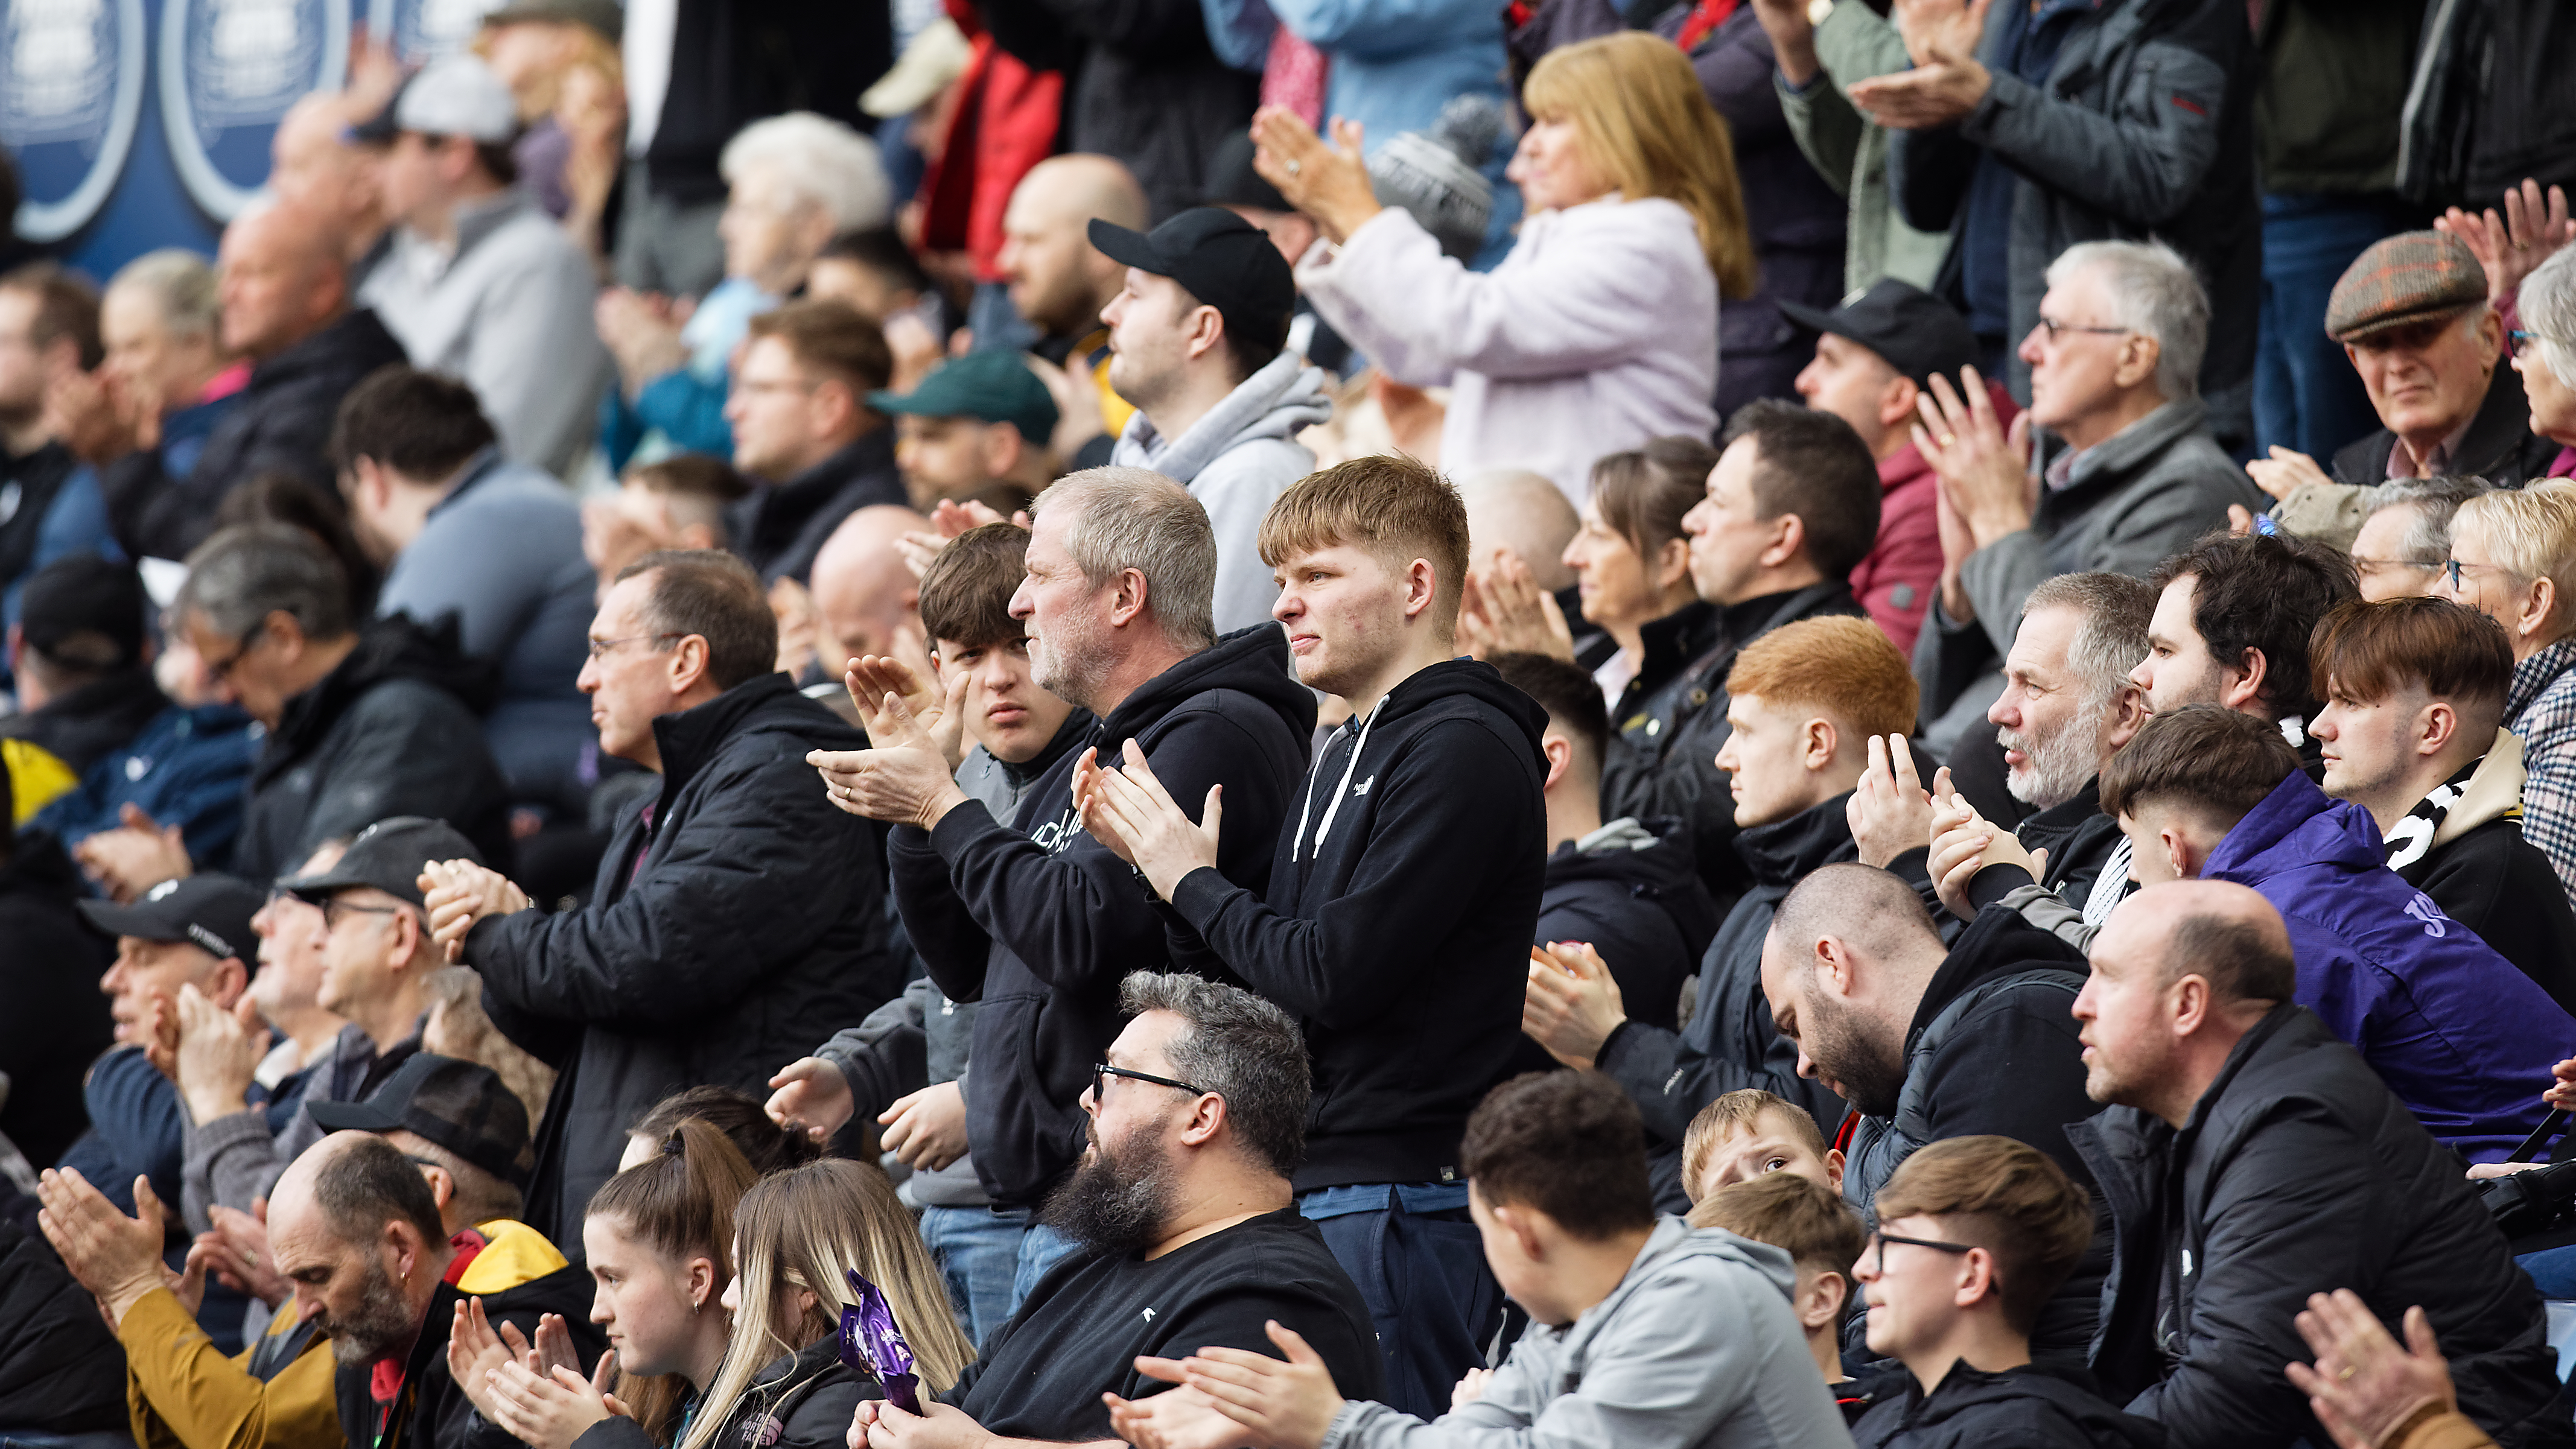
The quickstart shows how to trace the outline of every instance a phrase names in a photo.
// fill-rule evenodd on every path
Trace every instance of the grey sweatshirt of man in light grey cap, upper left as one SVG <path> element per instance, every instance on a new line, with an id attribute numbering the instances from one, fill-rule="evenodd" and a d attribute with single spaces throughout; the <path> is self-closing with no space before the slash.
<path id="1" fill-rule="evenodd" d="M 608 347 L 590 317 L 590 260 L 520 190 L 459 208 L 456 252 L 394 232 L 394 250 L 358 288 L 412 365 L 464 378 L 510 458 L 556 476 L 598 432 Z"/>

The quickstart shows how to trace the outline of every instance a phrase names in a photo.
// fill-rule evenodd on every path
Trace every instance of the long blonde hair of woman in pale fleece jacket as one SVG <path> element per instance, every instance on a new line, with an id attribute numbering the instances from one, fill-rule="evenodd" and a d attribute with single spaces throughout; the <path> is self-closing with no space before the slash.
<path id="1" fill-rule="evenodd" d="M 1628 201 L 1662 196 L 1690 211 L 1718 293 L 1752 296 L 1759 273 L 1736 144 L 1680 46 L 1620 31 L 1553 49 L 1530 69 L 1520 103 L 1538 121 L 1571 118 L 1584 160 Z"/>

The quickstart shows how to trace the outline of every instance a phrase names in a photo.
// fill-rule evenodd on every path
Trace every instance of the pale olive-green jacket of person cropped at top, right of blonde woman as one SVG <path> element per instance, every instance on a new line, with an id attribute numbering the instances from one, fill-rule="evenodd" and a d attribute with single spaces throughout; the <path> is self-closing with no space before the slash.
<path id="1" fill-rule="evenodd" d="M 1911 69 L 1906 41 L 1886 15 L 1847 0 L 1816 26 L 1816 62 L 1824 75 L 1803 90 L 1777 69 L 1780 116 L 1826 185 L 1850 203 L 1842 247 L 1842 286 L 1862 291 L 1878 278 L 1932 288 L 1950 232 L 1917 232 L 1888 196 L 1888 129 L 1870 121 L 1850 100 L 1855 80 Z"/>

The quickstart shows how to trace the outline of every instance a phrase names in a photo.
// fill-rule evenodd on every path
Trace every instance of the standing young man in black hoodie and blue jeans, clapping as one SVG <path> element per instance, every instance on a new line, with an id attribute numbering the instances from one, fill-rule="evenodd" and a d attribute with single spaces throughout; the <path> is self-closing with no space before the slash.
<path id="1" fill-rule="evenodd" d="M 1388 1403 L 1437 1416 L 1502 1315 L 1458 1140 L 1520 1022 L 1548 852 L 1546 713 L 1489 664 L 1453 659 L 1468 538 L 1440 474 L 1401 456 L 1324 468 L 1270 504 L 1260 548 L 1298 679 L 1352 710 L 1296 824 L 1221 831 L 1216 790 L 1121 734 L 1126 772 L 1087 762 L 1082 818 L 1208 942 L 1211 965 L 1303 1019 L 1316 1094 L 1298 1207 L 1368 1300 Z M 1206 824 L 1175 798 L 1203 798 Z M 1278 847 L 1267 893 L 1211 870 L 1247 834 Z"/>

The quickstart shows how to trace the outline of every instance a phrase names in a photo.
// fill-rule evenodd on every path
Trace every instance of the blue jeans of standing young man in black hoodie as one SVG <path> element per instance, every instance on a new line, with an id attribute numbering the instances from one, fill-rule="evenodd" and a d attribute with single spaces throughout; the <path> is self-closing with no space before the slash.
<path id="1" fill-rule="evenodd" d="M 1486 1367 L 1484 1346 L 1502 1328 L 1502 1284 L 1484 1264 L 1466 1186 L 1327 1186 L 1298 1197 L 1298 1212 L 1324 1233 L 1368 1302 L 1386 1354 L 1378 1400 L 1414 1418 L 1448 1413 L 1450 1390 L 1468 1369 Z"/>

